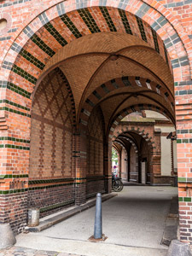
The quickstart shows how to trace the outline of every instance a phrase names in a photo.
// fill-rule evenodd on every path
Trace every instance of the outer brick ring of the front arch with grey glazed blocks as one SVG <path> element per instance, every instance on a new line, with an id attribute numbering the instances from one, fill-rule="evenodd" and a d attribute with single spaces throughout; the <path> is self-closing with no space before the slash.
<path id="1" fill-rule="evenodd" d="M 153 7 L 150 6 L 150 4 L 143 3 L 143 1 L 140 0 L 138 0 L 137 7 L 135 7 L 136 5 L 132 4 L 132 1 L 133 0 L 131 0 L 128 4 L 122 4 L 119 3 L 119 1 L 113 1 L 110 2 L 110 4 L 108 2 L 105 4 L 102 3 L 101 6 L 125 10 L 126 12 L 131 13 L 132 15 L 136 15 L 139 19 L 147 22 L 148 25 L 154 29 L 154 32 L 157 32 L 157 34 L 163 40 L 165 47 L 170 55 L 173 70 L 177 70 L 177 73 L 179 73 L 179 75 L 176 75 L 176 73 L 173 72 L 175 82 L 178 80 L 181 81 L 182 79 L 186 80 L 186 76 L 183 78 L 183 68 L 186 74 L 186 67 L 189 67 L 189 57 L 187 54 L 189 44 L 183 43 L 183 37 L 185 36 L 183 34 L 183 26 L 174 17 L 172 17 L 171 12 L 169 12 L 163 7 L 163 5 L 156 1 L 154 1 L 155 4 L 153 4 Z M 20 55 L 20 49 L 23 49 L 29 38 L 31 38 L 34 33 L 38 34 L 38 30 L 46 25 L 47 22 L 80 8 L 96 6 L 98 6 L 96 1 L 88 1 L 86 3 L 79 3 L 77 0 L 70 2 L 63 1 L 55 3 L 53 6 L 50 4 L 48 9 L 44 9 L 43 11 L 41 9 L 35 15 L 32 15 L 30 22 L 26 22 L 22 30 L 20 29 L 19 32 L 15 32 L 15 36 L 13 37 L 15 39 L 10 41 L 9 49 L 7 50 L 7 54 L 3 59 L 3 82 L 10 82 L 9 79 L 11 74 L 12 77 L 13 73 L 15 74 L 13 71 L 15 70 L 14 65 L 17 57 Z M 173 51 L 174 57 L 172 55 Z M 50 49 L 49 55 L 52 53 L 53 52 Z M 180 57 L 176 59 L 175 54 Z M 44 60 L 45 59 L 47 58 L 44 58 Z M 21 67 L 15 70 L 17 75 L 23 73 L 21 77 L 24 79 L 28 76 L 27 82 L 29 82 L 31 85 L 31 92 L 33 90 L 34 84 L 37 83 L 37 80 L 40 76 L 41 72 L 39 70 L 41 70 L 41 68 L 45 65 L 43 61 L 40 61 L 41 63 L 38 63 L 39 60 L 35 61 L 37 62 L 36 66 L 38 66 L 38 68 L 34 68 L 32 65 L 26 65 L 26 68 L 28 69 L 25 69 L 24 73 Z"/>

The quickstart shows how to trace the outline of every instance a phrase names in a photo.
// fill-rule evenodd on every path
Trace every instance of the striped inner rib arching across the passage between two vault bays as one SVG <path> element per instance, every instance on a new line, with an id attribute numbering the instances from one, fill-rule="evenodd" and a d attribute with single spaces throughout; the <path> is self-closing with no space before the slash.
<path id="1" fill-rule="evenodd" d="M 113 85 L 115 84 L 115 86 Z M 157 90 L 158 87 L 158 90 Z M 97 87 L 94 92 L 90 94 L 90 96 L 86 99 L 83 108 L 81 109 L 80 121 L 84 120 L 87 122 L 89 119 L 89 114 L 92 109 L 95 108 L 98 104 L 102 104 L 102 102 L 108 101 L 108 99 L 112 97 L 131 95 L 131 96 L 144 96 L 149 98 L 159 105 L 161 104 L 161 108 L 167 108 L 167 111 L 172 113 L 172 117 L 174 116 L 174 98 L 172 96 L 167 96 L 167 91 L 165 88 L 161 87 L 159 89 L 159 85 L 154 82 L 148 81 L 148 79 L 143 79 L 137 77 L 123 77 L 118 79 L 113 79 L 108 81 L 105 84 Z M 153 95 L 153 97 L 152 97 Z M 115 99 L 115 98 L 114 98 Z M 127 100 L 127 99 L 125 99 Z M 119 106 L 122 102 L 119 102 Z M 140 102 L 142 103 L 142 102 Z"/>

